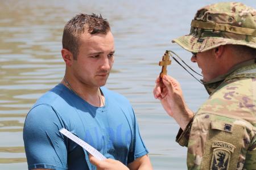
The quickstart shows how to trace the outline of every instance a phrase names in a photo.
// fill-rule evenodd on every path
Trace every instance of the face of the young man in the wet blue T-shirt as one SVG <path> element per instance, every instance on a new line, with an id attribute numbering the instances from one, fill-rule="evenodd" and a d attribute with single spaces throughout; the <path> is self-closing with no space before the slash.
<path id="1" fill-rule="evenodd" d="M 72 63 L 74 78 L 88 87 L 104 86 L 114 63 L 114 50 L 110 31 L 106 35 L 83 33 L 77 60 Z"/>

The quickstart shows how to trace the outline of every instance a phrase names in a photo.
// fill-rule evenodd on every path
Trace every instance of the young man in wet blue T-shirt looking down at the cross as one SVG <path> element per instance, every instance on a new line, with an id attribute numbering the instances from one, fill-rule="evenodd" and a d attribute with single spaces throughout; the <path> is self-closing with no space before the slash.
<path id="1" fill-rule="evenodd" d="M 65 25 L 64 78 L 36 101 L 24 124 L 28 169 L 96 169 L 61 128 L 130 169 L 152 169 L 129 101 L 102 87 L 114 52 L 109 23 L 101 16 L 80 14 Z"/>

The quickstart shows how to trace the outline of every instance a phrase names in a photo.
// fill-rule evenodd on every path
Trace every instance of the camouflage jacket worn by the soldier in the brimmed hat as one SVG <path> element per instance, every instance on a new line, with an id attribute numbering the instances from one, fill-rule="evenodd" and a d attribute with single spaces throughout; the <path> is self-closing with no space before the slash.
<path id="1" fill-rule="evenodd" d="M 255 61 L 208 84 L 209 99 L 180 129 L 176 141 L 188 147 L 188 169 L 256 169 Z"/>

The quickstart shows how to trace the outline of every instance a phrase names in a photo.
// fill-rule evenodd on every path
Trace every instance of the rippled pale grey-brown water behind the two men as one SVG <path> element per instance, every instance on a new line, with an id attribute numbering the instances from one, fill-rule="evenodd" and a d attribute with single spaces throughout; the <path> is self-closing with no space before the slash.
<path id="1" fill-rule="evenodd" d="M 60 82 L 64 24 L 79 12 L 101 13 L 115 37 L 115 63 L 106 85 L 125 95 L 137 114 L 155 169 L 186 169 L 186 148 L 175 143 L 179 127 L 152 96 L 158 66 L 170 40 L 189 31 L 197 8 L 219 1 L 4 1 L 0 3 L 0 169 L 27 169 L 22 130 L 39 96 Z M 255 8 L 255 1 L 242 1 Z M 197 71 L 196 65 L 192 65 Z M 168 73 L 180 81 L 196 111 L 207 93 L 175 62 Z"/>

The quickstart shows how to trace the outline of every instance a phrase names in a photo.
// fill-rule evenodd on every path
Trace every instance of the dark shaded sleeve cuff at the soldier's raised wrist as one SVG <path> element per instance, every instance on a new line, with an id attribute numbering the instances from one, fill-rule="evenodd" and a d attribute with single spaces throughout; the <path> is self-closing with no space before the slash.
<path id="1" fill-rule="evenodd" d="M 188 139 L 189 139 L 189 133 L 192 126 L 193 118 L 188 123 L 187 127 L 184 129 L 184 131 L 180 128 L 177 136 L 176 136 L 176 142 L 179 143 L 180 146 L 186 146 L 188 147 Z"/>

